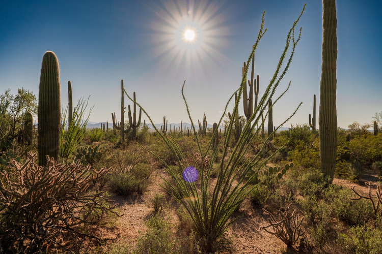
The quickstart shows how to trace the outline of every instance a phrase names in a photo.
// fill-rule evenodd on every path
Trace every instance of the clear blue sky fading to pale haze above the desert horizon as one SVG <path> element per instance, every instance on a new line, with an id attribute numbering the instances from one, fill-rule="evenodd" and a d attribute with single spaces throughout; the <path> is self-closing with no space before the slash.
<path id="1" fill-rule="evenodd" d="M 372 121 L 382 111 L 382 1 L 337 0 L 338 125 Z M 279 93 L 291 88 L 273 110 L 280 124 L 303 102 L 289 123 L 307 123 L 313 94 L 319 108 L 321 75 L 321 1 L 7 1 L 0 9 L 0 92 L 24 87 L 38 96 L 42 56 L 56 53 L 60 64 L 61 103 L 67 82 L 73 100 L 90 96 L 90 120 L 120 118 L 120 84 L 155 123 L 189 122 L 185 94 L 194 121 L 218 121 L 241 80 L 241 67 L 257 37 L 262 12 L 267 32 L 255 55 L 260 95 L 275 72 L 286 35 L 304 4 L 298 27 L 301 41 Z M 185 27 L 196 39 L 182 39 Z M 125 98 L 125 106 L 131 104 Z M 240 107 L 239 114 L 242 114 Z M 127 118 L 127 113 L 125 119 Z M 143 119 L 147 119 L 143 116 Z"/>

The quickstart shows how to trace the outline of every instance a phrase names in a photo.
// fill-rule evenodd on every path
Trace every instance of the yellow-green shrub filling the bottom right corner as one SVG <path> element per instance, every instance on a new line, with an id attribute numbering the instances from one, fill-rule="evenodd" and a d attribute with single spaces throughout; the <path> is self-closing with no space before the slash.
<path id="1" fill-rule="evenodd" d="M 338 242 L 343 253 L 382 253 L 382 232 L 366 226 L 350 228 L 349 234 L 340 234 Z"/>

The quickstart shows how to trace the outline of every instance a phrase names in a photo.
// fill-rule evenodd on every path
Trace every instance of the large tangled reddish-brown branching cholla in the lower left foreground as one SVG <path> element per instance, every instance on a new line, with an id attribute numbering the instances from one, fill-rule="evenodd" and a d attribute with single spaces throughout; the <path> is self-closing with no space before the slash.
<path id="1" fill-rule="evenodd" d="M 104 192 L 89 189 L 108 169 L 62 165 L 53 158 L 41 167 L 35 157 L 30 153 L 25 163 L 13 161 L 0 172 L 1 250 L 78 251 L 92 242 L 100 244 L 98 228 L 114 207 Z"/>

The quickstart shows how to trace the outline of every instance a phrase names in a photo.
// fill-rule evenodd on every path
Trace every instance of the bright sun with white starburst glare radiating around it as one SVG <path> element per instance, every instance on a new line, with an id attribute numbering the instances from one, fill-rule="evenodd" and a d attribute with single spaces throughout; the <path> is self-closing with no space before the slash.
<path id="1" fill-rule="evenodd" d="M 227 15 L 221 13 L 218 1 L 168 0 L 153 9 L 158 21 L 152 23 L 151 57 L 159 59 L 163 72 L 197 77 L 196 73 L 227 61 L 222 50 L 228 44 L 228 27 L 223 25 Z"/>

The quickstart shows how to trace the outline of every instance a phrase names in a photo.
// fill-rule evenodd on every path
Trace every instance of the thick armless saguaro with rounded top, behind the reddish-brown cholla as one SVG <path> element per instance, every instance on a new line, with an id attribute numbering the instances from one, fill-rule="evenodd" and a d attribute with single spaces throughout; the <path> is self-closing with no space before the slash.
<path id="1" fill-rule="evenodd" d="M 39 165 L 45 166 L 46 155 L 57 159 L 60 151 L 60 71 L 59 61 L 51 51 L 42 58 L 37 115 Z"/>

